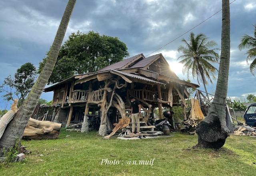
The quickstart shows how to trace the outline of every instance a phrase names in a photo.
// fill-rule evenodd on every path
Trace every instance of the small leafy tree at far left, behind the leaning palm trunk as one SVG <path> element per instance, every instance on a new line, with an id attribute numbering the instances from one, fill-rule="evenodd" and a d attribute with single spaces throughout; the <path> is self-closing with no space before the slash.
<path id="1" fill-rule="evenodd" d="M 2 95 L 3 100 L 14 101 L 18 98 L 20 107 L 35 83 L 36 72 L 36 67 L 32 63 L 25 63 L 17 69 L 14 78 L 11 75 L 4 78 L 4 83 L 0 86 L 0 92 L 5 93 Z"/>

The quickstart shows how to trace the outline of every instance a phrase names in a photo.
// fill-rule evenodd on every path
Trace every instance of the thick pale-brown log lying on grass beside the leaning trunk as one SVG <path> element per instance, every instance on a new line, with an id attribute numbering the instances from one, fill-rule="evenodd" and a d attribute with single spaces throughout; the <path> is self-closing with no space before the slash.
<path id="1" fill-rule="evenodd" d="M 23 133 L 24 139 L 57 139 L 61 123 L 30 118 Z"/>

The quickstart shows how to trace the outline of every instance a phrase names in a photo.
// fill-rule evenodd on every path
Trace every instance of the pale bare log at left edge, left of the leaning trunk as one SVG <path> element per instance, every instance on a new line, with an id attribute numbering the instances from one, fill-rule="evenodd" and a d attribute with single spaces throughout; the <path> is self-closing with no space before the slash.
<path id="1" fill-rule="evenodd" d="M 18 104 L 18 99 L 15 99 L 11 106 L 12 110 L 8 111 L 0 119 L 0 139 L 1 139 L 2 135 L 4 134 L 4 130 L 6 129 L 6 126 L 12 120 L 12 118 L 14 117 L 16 112 L 18 111 L 17 104 Z"/>

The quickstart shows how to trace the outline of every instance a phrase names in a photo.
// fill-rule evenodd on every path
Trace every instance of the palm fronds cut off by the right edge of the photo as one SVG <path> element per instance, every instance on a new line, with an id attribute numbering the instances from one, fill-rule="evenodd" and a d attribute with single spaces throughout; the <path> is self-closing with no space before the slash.
<path id="1" fill-rule="evenodd" d="M 254 29 L 254 37 L 244 34 L 241 37 L 240 44 L 238 45 L 238 49 L 241 51 L 242 49 L 249 49 L 246 51 L 245 55 L 248 55 L 246 58 L 247 64 L 250 61 L 250 72 L 255 76 L 256 74 L 256 25 L 253 25 Z"/>

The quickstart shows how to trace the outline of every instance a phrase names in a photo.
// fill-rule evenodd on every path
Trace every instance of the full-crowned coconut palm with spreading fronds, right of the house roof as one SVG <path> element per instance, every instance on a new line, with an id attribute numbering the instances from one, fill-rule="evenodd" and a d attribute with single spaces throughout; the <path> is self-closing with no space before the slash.
<path id="1" fill-rule="evenodd" d="M 177 61 L 181 60 L 179 63 L 184 64 L 182 69 L 183 74 L 186 74 L 188 78 L 190 74 L 192 74 L 194 79 L 197 78 L 199 84 L 202 82 L 206 93 L 206 85 L 208 85 L 207 79 L 210 80 L 212 84 L 212 80 L 216 79 L 215 73 L 218 71 L 212 64 L 218 63 L 220 59 L 219 54 L 216 53 L 219 49 L 211 49 L 215 47 L 217 43 L 213 40 L 208 41 L 208 39 L 209 38 L 203 33 L 195 36 L 195 34 L 191 32 L 188 37 L 188 42 L 184 38 L 182 39 L 185 46 L 179 46 L 178 52 L 184 55 L 177 59 Z"/>

